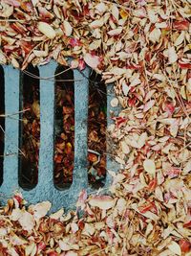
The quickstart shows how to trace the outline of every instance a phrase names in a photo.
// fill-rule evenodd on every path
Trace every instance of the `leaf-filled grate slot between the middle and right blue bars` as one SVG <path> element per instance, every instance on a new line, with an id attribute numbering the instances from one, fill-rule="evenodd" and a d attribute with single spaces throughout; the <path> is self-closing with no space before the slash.
<path id="1" fill-rule="evenodd" d="M 59 65 L 55 75 L 53 181 L 66 189 L 74 171 L 74 72 Z"/>

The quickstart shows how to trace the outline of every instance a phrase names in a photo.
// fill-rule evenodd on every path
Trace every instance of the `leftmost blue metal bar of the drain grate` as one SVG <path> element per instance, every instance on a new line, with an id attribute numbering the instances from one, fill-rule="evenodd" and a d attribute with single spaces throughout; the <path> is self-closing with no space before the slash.
<path id="1" fill-rule="evenodd" d="M 19 127 L 19 70 L 4 67 L 5 72 L 5 160 L 1 192 L 11 197 L 18 189 L 18 127 Z M 13 114 L 13 115 L 12 115 Z M 19 152 L 21 153 L 21 152 Z"/>

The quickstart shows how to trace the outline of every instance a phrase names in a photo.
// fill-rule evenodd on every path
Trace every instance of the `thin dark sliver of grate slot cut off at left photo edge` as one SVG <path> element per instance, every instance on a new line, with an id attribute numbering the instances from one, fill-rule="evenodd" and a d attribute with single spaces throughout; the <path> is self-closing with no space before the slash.
<path id="1" fill-rule="evenodd" d="M 0 66 L 0 115 L 5 115 L 5 81 L 3 67 Z M 0 185 L 3 183 L 5 117 L 0 117 Z M 3 130 L 2 130 L 3 129 Z"/>

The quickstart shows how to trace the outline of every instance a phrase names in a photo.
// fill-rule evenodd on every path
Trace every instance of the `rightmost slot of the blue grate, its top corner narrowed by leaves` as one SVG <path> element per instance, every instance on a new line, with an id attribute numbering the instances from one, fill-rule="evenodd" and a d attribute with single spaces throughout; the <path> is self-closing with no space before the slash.
<path id="1" fill-rule="evenodd" d="M 101 76 L 92 71 L 88 107 L 88 180 L 98 189 L 106 178 L 107 91 Z"/>

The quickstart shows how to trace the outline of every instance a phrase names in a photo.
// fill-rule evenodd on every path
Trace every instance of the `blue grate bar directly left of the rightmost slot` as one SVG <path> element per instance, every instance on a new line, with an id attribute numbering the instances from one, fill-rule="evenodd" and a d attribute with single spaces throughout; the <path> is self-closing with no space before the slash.
<path id="1" fill-rule="evenodd" d="M 74 70 L 74 179 L 72 189 L 80 192 L 88 186 L 87 122 L 90 69 Z"/>

